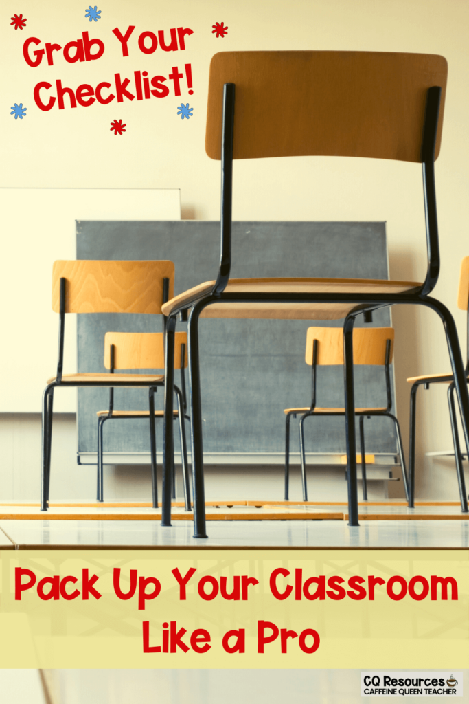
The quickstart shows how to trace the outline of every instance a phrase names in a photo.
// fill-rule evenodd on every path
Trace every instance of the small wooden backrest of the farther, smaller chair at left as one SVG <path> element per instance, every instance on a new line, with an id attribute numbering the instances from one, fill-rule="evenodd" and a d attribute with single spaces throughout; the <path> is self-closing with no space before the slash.
<path id="1" fill-rule="evenodd" d="M 186 345 L 187 334 L 176 332 L 174 368 L 181 368 L 181 344 Z M 114 345 L 115 369 L 164 369 L 165 338 L 162 332 L 106 332 L 104 338 L 104 366 L 110 369 L 110 346 Z"/>

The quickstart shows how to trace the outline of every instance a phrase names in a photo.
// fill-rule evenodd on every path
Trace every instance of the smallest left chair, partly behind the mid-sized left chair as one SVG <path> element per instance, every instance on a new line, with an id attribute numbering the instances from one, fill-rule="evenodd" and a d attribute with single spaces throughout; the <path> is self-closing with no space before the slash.
<path id="1" fill-rule="evenodd" d="M 174 393 L 177 398 L 177 410 L 174 410 L 174 417 L 179 417 L 179 439 L 181 441 L 181 463 L 184 484 L 184 503 L 186 511 L 191 510 L 191 487 L 189 484 L 186 429 L 184 420 L 186 415 L 186 379 L 184 369 L 187 366 L 186 359 L 187 335 L 185 332 L 176 332 L 176 346 L 174 364 L 179 366 L 181 372 L 181 389 L 174 384 Z M 165 368 L 165 344 L 162 332 L 106 332 L 104 338 L 104 366 L 110 374 L 114 374 L 117 369 L 164 369 Z M 98 410 L 98 479 L 96 496 L 98 501 L 103 501 L 103 425 L 106 420 L 125 420 L 126 418 L 147 418 L 150 420 L 150 451 L 152 467 L 156 467 L 156 436 L 155 419 L 162 418 L 164 412 L 155 410 L 155 391 L 157 386 L 149 387 L 149 410 L 115 410 L 114 409 L 114 387 L 109 389 L 108 410 Z M 174 461 L 172 474 L 172 497 L 175 494 Z M 155 492 L 156 484 L 154 485 Z M 155 496 L 155 503 L 158 505 L 158 494 Z"/>

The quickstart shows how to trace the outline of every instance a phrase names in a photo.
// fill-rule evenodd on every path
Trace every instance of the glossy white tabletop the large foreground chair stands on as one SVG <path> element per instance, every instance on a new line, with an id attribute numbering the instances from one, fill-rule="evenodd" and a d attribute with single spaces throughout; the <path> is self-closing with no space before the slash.
<path id="1" fill-rule="evenodd" d="M 469 521 L 211 521 L 207 539 L 191 521 L 0 520 L 1 549 L 41 548 L 469 548 Z"/>

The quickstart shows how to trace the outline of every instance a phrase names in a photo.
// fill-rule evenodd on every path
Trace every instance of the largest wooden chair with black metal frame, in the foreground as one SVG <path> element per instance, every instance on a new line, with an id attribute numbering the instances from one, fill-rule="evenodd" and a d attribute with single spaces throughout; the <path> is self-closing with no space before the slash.
<path id="1" fill-rule="evenodd" d="M 206 537 L 198 321 L 210 318 L 345 318 L 345 425 L 349 525 L 358 526 L 352 332 L 375 308 L 427 306 L 446 333 L 469 446 L 469 394 L 456 326 L 430 292 L 439 275 L 434 161 L 442 135 L 446 60 L 375 51 L 228 51 L 210 64 L 205 149 L 221 160 L 216 278 L 168 301 L 162 524 L 171 524 L 172 359 L 176 315 L 188 318 L 194 534 Z M 236 93 L 236 107 L 235 107 Z M 230 279 L 233 159 L 353 156 L 423 165 L 428 270 L 423 282 L 374 279 Z M 312 163 L 311 163 L 312 166 Z M 281 170 L 277 164 L 278 176 Z M 342 196 L 338 196 L 342 197 Z M 314 199 L 313 199 L 314 202 Z M 418 203 L 420 206 L 420 202 Z M 312 210 L 311 212 L 314 212 Z M 274 256 L 266 251 L 266 257 Z M 302 257 L 314 256 L 314 251 Z M 340 256 L 340 251 L 338 251 Z"/>

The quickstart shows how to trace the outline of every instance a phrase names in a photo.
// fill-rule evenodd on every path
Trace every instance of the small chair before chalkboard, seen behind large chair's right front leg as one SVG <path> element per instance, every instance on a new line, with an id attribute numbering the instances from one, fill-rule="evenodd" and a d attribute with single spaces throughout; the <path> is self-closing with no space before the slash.
<path id="1" fill-rule="evenodd" d="M 355 408 L 355 416 L 359 417 L 360 450 L 361 450 L 361 482 L 364 501 L 368 501 L 366 484 L 366 455 L 364 420 L 371 416 L 382 415 L 394 423 L 397 451 L 401 461 L 404 489 L 408 496 L 406 464 L 402 450 L 399 422 L 391 413 L 391 375 L 390 363 L 394 347 L 394 329 L 392 327 L 358 327 L 353 334 L 354 364 L 381 365 L 384 367 L 386 382 L 386 406 L 381 408 Z M 290 481 L 290 419 L 300 417 L 300 459 L 303 501 L 308 501 L 306 463 L 304 458 L 304 420 L 319 415 L 345 416 L 345 408 L 321 408 L 316 406 L 316 368 L 321 365 L 344 364 L 343 331 L 339 327 L 309 327 L 306 336 L 306 352 L 304 360 L 311 367 L 311 405 L 309 408 L 285 408 L 285 501 L 289 498 Z"/>

